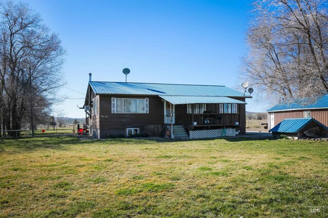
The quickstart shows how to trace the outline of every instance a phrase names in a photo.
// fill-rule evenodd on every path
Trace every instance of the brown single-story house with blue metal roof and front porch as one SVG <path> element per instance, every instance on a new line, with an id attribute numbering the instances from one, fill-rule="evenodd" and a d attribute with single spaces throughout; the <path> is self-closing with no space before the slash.
<path id="1" fill-rule="evenodd" d="M 142 134 L 161 125 L 175 138 L 245 133 L 243 93 L 226 86 L 94 82 L 89 80 L 84 109 L 97 138 Z"/>

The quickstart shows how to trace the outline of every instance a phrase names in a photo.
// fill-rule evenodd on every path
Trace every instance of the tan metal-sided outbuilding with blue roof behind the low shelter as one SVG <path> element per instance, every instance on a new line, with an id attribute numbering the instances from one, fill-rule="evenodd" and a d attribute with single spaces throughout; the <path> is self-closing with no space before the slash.
<path id="1" fill-rule="evenodd" d="M 328 126 L 328 95 L 322 96 L 313 104 L 281 103 L 268 111 L 268 126 L 269 129 L 288 118 L 315 118 L 323 124 Z"/>

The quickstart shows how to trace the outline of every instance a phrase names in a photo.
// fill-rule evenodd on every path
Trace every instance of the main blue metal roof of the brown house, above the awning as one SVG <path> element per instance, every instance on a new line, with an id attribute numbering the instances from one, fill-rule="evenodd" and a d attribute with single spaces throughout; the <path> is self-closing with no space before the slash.
<path id="1" fill-rule="evenodd" d="M 231 96 L 242 97 L 243 93 L 226 86 L 178 85 L 158 83 L 89 82 L 96 94 L 139 94 L 179 96 Z"/>

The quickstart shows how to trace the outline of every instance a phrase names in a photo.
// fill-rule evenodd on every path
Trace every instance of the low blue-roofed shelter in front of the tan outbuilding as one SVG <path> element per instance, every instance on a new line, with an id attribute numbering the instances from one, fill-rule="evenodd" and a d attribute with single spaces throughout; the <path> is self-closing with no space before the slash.
<path id="1" fill-rule="evenodd" d="M 284 119 L 269 130 L 273 137 L 287 135 L 293 138 L 323 138 L 328 136 L 328 127 L 314 118 Z"/>

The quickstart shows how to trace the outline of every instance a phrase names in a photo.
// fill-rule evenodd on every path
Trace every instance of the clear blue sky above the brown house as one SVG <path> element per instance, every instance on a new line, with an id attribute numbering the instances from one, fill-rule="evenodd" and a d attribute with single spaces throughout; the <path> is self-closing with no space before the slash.
<path id="1" fill-rule="evenodd" d="M 251 1 L 28 1 L 67 50 L 59 95 L 84 98 L 94 81 L 239 86 Z M 81 93 L 78 93 L 81 92 Z M 84 117 L 66 100 L 55 109 Z M 263 111 L 247 100 L 248 111 Z"/>

